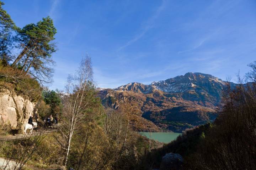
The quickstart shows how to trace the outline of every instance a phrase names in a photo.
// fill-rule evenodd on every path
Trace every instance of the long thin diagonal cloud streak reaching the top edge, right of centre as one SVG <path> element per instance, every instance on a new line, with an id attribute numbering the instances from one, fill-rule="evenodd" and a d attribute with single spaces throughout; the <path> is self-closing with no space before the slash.
<path id="1" fill-rule="evenodd" d="M 121 51 L 122 49 L 128 47 L 129 45 L 133 44 L 134 42 L 138 41 L 140 38 L 142 38 L 146 32 L 148 32 L 149 29 L 154 27 L 154 21 L 159 17 L 160 13 L 164 10 L 166 6 L 166 0 L 162 1 L 162 4 L 158 7 L 156 12 L 154 13 L 153 16 L 151 16 L 143 25 L 142 31 L 138 33 L 137 35 L 134 36 L 133 39 L 129 40 L 124 44 L 123 46 L 119 47 L 117 51 Z"/>

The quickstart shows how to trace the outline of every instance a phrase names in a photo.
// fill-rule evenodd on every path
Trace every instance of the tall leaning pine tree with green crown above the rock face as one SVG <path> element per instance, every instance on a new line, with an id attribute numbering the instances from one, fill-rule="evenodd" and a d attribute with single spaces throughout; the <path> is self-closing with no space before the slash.
<path id="1" fill-rule="evenodd" d="M 52 53 L 56 51 L 56 46 L 52 42 L 57 33 L 50 17 L 43 18 L 37 24 L 28 24 L 19 29 L 16 39 L 22 49 L 11 66 L 16 66 L 21 62 L 21 73 L 30 73 L 41 83 L 48 83 L 53 73 L 49 66 L 53 64 Z"/>

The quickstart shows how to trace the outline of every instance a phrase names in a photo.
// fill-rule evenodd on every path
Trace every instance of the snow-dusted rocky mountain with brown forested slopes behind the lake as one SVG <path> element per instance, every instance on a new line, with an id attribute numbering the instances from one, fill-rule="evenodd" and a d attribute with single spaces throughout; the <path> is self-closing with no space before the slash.
<path id="1" fill-rule="evenodd" d="M 122 102 L 135 102 L 140 112 L 132 117 L 134 130 L 182 132 L 215 120 L 226 83 L 210 74 L 186 73 L 150 85 L 101 89 L 98 96 L 103 106 L 113 109 Z"/>

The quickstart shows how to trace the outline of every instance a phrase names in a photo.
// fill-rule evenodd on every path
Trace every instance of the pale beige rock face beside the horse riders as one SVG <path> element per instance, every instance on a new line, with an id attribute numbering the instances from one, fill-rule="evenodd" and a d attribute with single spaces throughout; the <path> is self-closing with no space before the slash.
<path id="1" fill-rule="evenodd" d="M 0 91 L 0 125 L 10 125 L 12 129 L 23 128 L 30 116 L 37 117 L 35 103 L 9 90 Z"/>

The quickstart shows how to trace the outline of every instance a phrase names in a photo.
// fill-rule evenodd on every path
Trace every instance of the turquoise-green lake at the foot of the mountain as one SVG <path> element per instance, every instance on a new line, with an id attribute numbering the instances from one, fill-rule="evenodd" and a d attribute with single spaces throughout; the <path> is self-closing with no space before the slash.
<path id="1" fill-rule="evenodd" d="M 143 136 L 146 136 L 149 139 L 153 139 L 159 142 L 169 143 L 175 140 L 180 133 L 171 133 L 171 132 L 140 132 Z"/>

